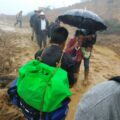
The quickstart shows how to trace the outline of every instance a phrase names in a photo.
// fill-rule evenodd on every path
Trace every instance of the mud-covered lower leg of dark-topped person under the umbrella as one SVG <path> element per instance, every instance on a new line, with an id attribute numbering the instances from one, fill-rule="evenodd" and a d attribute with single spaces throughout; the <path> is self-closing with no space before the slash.
<path id="1" fill-rule="evenodd" d="M 89 63 L 90 58 L 84 58 L 84 85 L 87 85 L 89 83 Z"/>

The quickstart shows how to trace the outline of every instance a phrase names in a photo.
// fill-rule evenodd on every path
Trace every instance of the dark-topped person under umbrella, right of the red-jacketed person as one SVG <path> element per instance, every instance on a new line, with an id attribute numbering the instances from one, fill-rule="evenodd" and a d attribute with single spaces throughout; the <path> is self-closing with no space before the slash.
<path id="1" fill-rule="evenodd" d="M 81 52 L 84 60 L 84 80 L 83 85 L 88 85 L 89 81 L 89 67 L 90 67 L 90 57 L 93 50 L 93 45 L 96 43 L 97 34 L 88 30 L 83 30 L 86 32 L 86 37 L 82 41 Z"/>

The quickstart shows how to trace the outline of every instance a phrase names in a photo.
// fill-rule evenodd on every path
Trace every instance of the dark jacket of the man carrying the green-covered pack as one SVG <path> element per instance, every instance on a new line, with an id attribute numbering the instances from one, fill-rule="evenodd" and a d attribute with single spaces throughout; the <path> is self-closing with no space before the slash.
<path id="1" fill-rule="evenodd" d="M 38 51 L 35 54 L 35 59 L 41 56 L 42 51 Z M 45 51 L 42 53 L 42 61 L 50 66 L 56 66 L 56 63 L 59 62 L 62 55 L 62 50 L 57 45 L 51 45 L 50 47 L 46 48 Z M 76 79 L 74 78 L 75 73 L 75 66 L 74 61 L 72 60 L 71 56 L 64 53 L 62 58 L 61 68 L 68 72 L 68 79 L 69 84 L 72 86 Z"/>

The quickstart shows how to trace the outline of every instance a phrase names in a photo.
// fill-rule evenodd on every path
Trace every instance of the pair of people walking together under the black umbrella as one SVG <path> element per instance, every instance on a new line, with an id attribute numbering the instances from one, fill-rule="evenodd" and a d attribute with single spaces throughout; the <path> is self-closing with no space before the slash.
<path id="1" fill-rule="evenodd" d="M 70 54 L 75 63 L 76 72 L 79 72 L 80 64 L 84 60 L 83 84 L 89 83 L 89 63 L 93 45 L 96 43 L 96 33 L 90 30 L 76 30 L 75 35 L 68 41 L 66 53 Z"/>

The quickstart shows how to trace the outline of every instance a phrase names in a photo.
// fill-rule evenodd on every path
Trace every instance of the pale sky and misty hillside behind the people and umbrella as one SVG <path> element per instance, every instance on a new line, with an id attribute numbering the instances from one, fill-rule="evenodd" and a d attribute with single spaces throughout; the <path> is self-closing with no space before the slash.
<path id="1" fill-rule="evenodd" d="M 13 24 L 15 15 L 22 10 L 24 24 L 29 26 L 29 18 L 38 8 L 44 9 L 50 22 L 66 10 L 91 10 L 106 22 L 108 29 L 104 33 L 120 33 L 120 0 L 0 0 L 0 21 Z"/>

